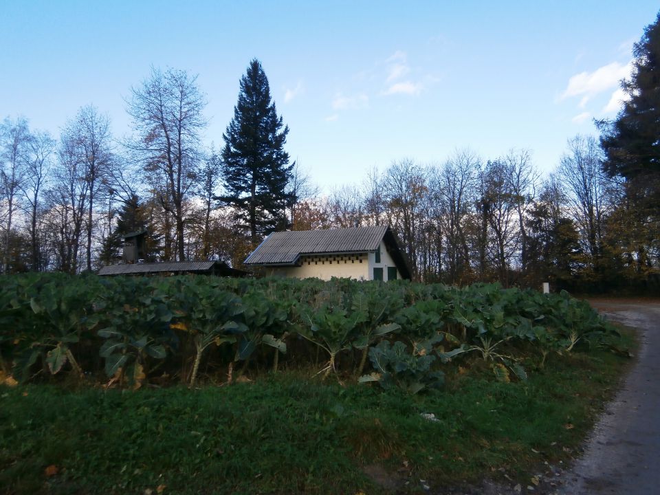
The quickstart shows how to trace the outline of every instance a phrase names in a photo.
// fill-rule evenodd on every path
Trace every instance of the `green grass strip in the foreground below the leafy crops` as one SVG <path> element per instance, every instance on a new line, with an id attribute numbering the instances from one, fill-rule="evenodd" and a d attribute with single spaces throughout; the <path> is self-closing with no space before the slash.
<path id="1" fill-rule="evenodd" d="M 509 384 L 463 362 L 426 395 L 300 371 L 197 390 L 0 386 L 0 494 L 423 493 L 420 479 L 522 479 L 571 458 L 627 362 L 555 355 Z"/>

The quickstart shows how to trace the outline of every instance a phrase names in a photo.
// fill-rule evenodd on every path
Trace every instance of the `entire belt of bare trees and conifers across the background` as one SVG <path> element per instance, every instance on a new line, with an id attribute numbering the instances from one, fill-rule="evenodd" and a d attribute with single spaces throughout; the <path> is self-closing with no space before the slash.
<path id="1" fill-rule="evenodd" d="M 205 96 L 177 69 L 152 68 L 131 89 L 132 126 L 121 139 L 94 104 L 58 136 L 7 117 L 1 272 L 98 270 L 118 263 L 122 235 L 139 230 L 148 232 L 145 261 L 240 267 L 274 230 L 388 224 L 417 281 L 657 293 L 660 17 L 633 55 L 617 117 L 595 122 L 599 135 L 569 139 L 549 174 L 524 143 L 497 157 L 456 149 L 438 163 L 412 151 L 320 194 L 313 167 L 285 151 L 289 129 L 256 59 L 221 148 L 203 143 Z"/>

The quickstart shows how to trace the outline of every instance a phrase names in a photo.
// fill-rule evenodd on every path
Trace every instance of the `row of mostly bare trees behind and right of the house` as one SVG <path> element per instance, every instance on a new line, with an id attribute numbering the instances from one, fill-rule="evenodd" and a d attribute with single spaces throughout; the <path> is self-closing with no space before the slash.
<path id="1" fill-rule="evenodd" d="M 294 229 L 386 223 L 415 278 L 428 282 L 645 286 L 659 261 L 657 218 L 638 221 L 625 182 L 608 177 L 602 159 L 595 137 L 582 135 L 545 178 L 525 150 L 491 160 L 462 150 L 430 165 L 401 159 L 360 186 L 300 201 Z"/>

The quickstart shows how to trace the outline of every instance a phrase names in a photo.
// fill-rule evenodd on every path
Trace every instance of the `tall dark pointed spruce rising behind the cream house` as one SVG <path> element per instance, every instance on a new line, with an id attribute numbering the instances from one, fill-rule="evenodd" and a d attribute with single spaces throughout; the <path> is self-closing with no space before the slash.
<path id="1" fill-rule="evenodd" d="M 221 203 L 234 208 L 236 220 L 252 243 L 265 234 L 286 228 L 285 209 L 295 201 L 287 184 L 293 164 L 284 151 L 289 126 L 271 102 L 268 79 L 261 63 L 252 60 L 241 78 L 234 118 L 222 137 L 225 195 Z"/>

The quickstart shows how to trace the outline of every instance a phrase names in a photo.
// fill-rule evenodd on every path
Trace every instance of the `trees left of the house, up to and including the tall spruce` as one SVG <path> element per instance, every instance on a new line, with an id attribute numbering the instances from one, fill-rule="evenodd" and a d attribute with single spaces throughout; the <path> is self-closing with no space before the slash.
<path id="1" fill-rule="evenodd" d="M 25 118 L 0 124 L 2 272 L 96 270 L 120 261 L 122 236 L 146 230 L 145 261 L 236 265 L 265 234 L 288 228 L 294 164 L 288 128 L 259 61 L 241 78 L 221 149 L 201 142 L 197 78 L 152 68 L 131 88 L 123 140 L 94 105 L 58 139 Z"/>

